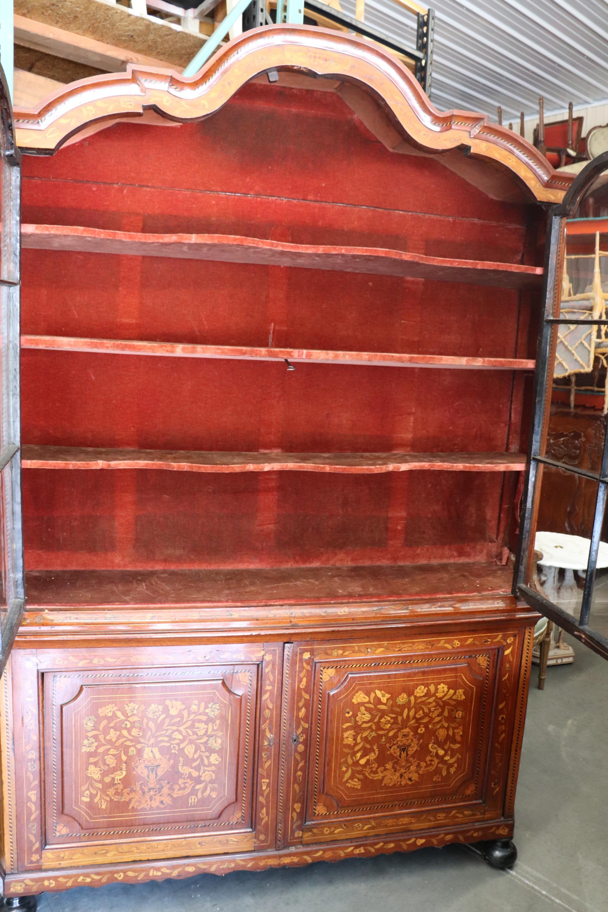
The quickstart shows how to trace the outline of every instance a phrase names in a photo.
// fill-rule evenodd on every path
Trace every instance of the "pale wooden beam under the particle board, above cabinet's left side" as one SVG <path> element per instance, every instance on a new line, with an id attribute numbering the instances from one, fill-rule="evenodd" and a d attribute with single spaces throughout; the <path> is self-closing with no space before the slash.
<path id="1" fill-rule="evenodd" d="M 110 73 L 119 73 L 127 67 L 128 63 L 138 63 L 144 67 L 167 68 L 165 60 L 136 54 L 124 47 L 107 45 L 95 38 L 67 32 L 63 28 L 48 26 L 46 22 L 26 19 L 25 16 L 15 16 L 15 44 L 33 47 L 46 54 L 65 57 L 67 60 L 105 69 Z"/>

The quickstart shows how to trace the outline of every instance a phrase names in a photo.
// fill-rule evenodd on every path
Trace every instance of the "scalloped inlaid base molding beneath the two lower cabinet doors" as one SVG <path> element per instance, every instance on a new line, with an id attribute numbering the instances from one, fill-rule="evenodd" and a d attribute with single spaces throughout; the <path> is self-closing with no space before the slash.
<path id="1" fill-rule="evenodd" d="M 161 864 L 135 862 L 131 865 L 99 865 L 87 872 L 52 870 L 27 876 L 7 875 L 6 896 L 26 896 L 56 892 L 71 886 L 106 886 L 107 884 L 139 884 L 149 880 L 193 877 L 197 874 L 229 874 L 231 871 L 264 871 L 273 867 L 300 867 L 317 861 L 344 861 L 345 858 L 369 858 L 373 855 L 392 855 L 393 852 L 412 852 L 419 848 L 441 848 L 443 845 L 467 845 L 484 840 L 508 839 L 513 833 L 512 820 L 488 824 L 434 830 L 408 838 L 368 839 L 314 848 L 283 849 L 256 852 L 251 855 L 224 855 L 222 858 L 180 858 Z"/>

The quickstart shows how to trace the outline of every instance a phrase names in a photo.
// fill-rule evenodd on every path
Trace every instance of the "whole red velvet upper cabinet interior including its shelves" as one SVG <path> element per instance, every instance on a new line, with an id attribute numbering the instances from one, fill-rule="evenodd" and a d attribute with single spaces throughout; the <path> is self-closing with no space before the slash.
<path id="1" fill-rule="evenodd" d="M 510 591 L 531 204 L 258 82 L 25 156 L 22 218 L 30 604 Z"/>

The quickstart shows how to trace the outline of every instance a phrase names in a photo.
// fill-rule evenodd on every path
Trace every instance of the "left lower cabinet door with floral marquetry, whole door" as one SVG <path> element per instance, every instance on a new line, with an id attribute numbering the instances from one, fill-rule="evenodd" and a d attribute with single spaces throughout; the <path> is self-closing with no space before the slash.
<path id="1" fill-rule="evenodd" d="M 16 652 L 19 868 L 273 845 L 282 650 Z"/>

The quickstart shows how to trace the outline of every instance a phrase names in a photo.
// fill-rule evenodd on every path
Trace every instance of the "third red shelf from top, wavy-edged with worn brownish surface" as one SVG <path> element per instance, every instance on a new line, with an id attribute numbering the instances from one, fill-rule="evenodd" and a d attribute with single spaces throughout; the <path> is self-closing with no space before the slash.
<path id="1" fill-rule="evenodd" d="M 521 472 L 523 453 L 261 453 L 109 450 L 24 444 L 24 469 L 165 469 L 172 472 Z"/>

